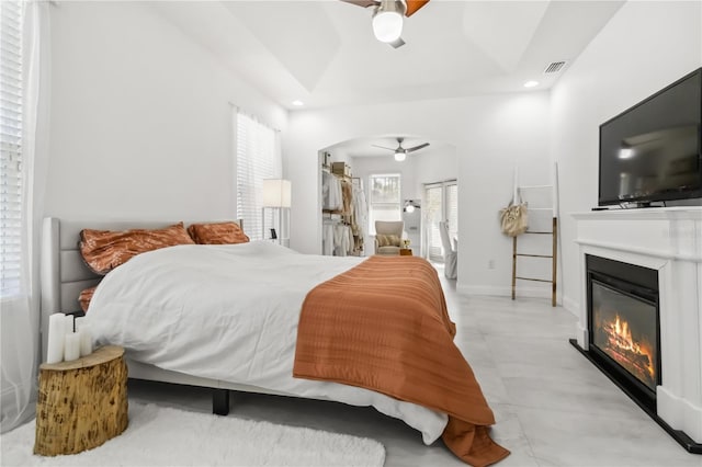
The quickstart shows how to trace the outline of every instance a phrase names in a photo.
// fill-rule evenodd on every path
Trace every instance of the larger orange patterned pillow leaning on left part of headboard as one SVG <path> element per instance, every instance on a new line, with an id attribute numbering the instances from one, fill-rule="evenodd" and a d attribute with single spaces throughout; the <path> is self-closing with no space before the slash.
<path id="1" fill-rule="evenodd" d="M 88 267 L 95 274 L 105 275 L 139 253 L 177 244 L 194 244 L 183 223 L 162 229 L 83 229 L 79 249 Z"/>

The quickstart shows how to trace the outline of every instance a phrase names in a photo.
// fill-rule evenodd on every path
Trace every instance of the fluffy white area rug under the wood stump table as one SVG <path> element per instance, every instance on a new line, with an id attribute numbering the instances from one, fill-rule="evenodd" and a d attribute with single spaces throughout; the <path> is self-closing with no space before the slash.
<path id="1" fill-rule="evenodd" d="M 376 441 L 129 402 L 120 436 L 80 454 L 33 455 L 34 421 L 0 438 L 3 466 L 383 466 Z"/>

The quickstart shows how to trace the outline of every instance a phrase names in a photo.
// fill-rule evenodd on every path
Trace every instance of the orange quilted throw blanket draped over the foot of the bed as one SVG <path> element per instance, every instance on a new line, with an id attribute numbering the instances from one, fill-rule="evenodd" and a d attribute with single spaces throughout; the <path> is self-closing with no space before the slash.
<path id="1" fill-rule="evenodd" d="M 453 343 L 437 271 L 415 257 L 371 257 L 303 304 L 293 375 L 359 386 L 449 414 L 442 438 L 465 463 L 509 451 L 471 366 Z"/>

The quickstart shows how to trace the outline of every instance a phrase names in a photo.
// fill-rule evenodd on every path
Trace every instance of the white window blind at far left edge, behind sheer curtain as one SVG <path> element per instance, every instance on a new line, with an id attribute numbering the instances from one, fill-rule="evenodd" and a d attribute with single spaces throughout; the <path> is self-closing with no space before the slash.
<path id="1" fill-rule="evenodd" d="M 0 298 L 22 292 L 22 12 L 0 1 Z"/>

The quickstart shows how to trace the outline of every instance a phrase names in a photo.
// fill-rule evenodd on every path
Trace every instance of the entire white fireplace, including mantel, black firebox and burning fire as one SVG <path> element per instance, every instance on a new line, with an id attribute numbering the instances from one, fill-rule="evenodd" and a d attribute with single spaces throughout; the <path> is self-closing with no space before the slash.
<path id="1" fill-rule="evenodd" d="M 575 213 L 570 343 L 702 454 L 702 206 Z M 565 274 L 564 274 L 565 275 Z"/>

